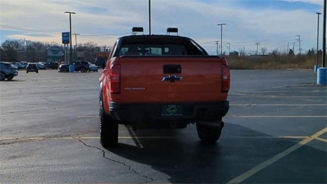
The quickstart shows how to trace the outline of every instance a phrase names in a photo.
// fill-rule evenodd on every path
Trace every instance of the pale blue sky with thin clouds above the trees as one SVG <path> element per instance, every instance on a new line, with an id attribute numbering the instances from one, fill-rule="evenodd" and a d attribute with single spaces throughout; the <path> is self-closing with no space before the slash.
<path id="1" fill-rule="evenodd" d="M 224 27 L 231 50 L 245 47 L 250 53 L 254 43 L 268 50 L 293 47 L 295 35 L 301 35 L 302 50 L 315 47 L 317 16 L 322 0 L 152 0 L 152 33 L 166 34 L 167 27 L 178 27 L 179 35 L 199 42 L 214 54 L 214 40 L 220 40 L 219 23 Z M 60 33 L 69 30 L 68 15 L 74 11 L 73 33 L 80 33 L 78 42 L 94 41 L 112 45 L 119 36 L 130 34 L 133 26 L 142 26 L 148 33 L 148 0 L 93 1 L 9 1 L 0 2 L 1 25 L 24 28 L 24 31 L 1 28 L 1 39 L 29 39 L 60 42 Z M 321 18 L 322 19 L 322 18 Z M 320 26 L 321 28 L 322 26 Z M 40 32 L 37 32 L 40 31 Z M 45 33 L 44 33 L 45 32 Z M 125 35 L 128 35 L 125 34 Z M 99 36 L 89 36 L 99 35 Z M 297 43 L 295 43 L 297 48 Z M 298 49 L 295 49 L 298 52 Z"/>

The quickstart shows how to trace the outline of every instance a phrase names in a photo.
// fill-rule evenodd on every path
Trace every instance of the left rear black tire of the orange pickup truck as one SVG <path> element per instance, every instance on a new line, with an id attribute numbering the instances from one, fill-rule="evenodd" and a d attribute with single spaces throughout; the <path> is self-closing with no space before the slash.
<path id="1" fill-rule="evenodd" d="M 115 147 L 118 144 L 118 123 L 105 114 L 102 102 L 99 102 L 100 114 L 100 144 L 105 147 Z"/>

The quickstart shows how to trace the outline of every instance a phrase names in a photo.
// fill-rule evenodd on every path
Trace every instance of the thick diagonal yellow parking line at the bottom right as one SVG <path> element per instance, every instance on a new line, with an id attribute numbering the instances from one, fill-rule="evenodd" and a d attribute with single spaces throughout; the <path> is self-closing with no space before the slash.
<path id="1" fill-rule="evenodd" d="M 323 133 L 327 132 L 327 128 L 324 128 L 318 132 L 316 132 L 315 134 L 311 135 L 310 137 L 306 138 L 305 140 L 302 140 L 301 142 L 289 147 L 288 149 L 282 151 L 281 153 L 276 154 L 275 156 L 269 158 L 268 160 L 266 160 L 265 162 L 255 166 L 254 168 L 246 171 L 245 173 L 237 176 L 236 178 L 233 178 L 232 180 L 230 180 L 227 183 L 240 183 L 242 181 L 244 181 L 245 179 L 249 178 L 250 176 L 252 176 L 253 174 L 263 170 L 264 168 L 270 166 L 271 164 L 277 162 L 277 160 L 287 156 L 288 154 L 292 153 L 293 151 L 299 149 L 300 147 L 302 147 L 303 145 L 308 144 L 310 141 L 317 139 L 317 137 Z"/>

